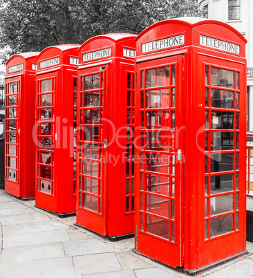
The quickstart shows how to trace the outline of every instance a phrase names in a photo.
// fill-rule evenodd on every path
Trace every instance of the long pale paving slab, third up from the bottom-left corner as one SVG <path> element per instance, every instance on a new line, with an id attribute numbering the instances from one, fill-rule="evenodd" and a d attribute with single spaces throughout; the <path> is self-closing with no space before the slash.
<path id="1" fill-rule="evenodd" d="M 53 230 L 48 232 L 32 232 L 30 234 L 16 234 L 3 238 L 3 248 L 38 245 L 69 241 L 66 230 Z"/>

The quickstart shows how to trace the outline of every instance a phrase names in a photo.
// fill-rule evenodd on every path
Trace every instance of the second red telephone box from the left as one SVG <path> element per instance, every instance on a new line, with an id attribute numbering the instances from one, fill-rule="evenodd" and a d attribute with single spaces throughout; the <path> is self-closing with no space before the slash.
<path id="1" fill-rule="evenodd" d="M 37 57 L 35 205 L 59 216 L 76 211 L 77 44 Z"/>

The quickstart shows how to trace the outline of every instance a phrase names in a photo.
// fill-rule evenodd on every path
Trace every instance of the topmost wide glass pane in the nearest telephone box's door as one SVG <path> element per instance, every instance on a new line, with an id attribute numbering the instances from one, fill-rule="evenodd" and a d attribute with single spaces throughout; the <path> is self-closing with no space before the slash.
<path id="1" fill-rule="evenodd" d="M 146 88 L 169 85 L 169 66 L 146 71 Z"/>

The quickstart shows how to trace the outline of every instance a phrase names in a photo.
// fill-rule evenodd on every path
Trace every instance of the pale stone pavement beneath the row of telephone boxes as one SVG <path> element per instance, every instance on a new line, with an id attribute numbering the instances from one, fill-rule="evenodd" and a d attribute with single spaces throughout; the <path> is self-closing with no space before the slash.
<path id="1" fill-rule="evenodd" d="M 0 189 L 0 278 L 176 278 L 189 276 L 133 252 L 134 239 L 111 242 Z M 196 277 L 253 277 L 249 254 Z"/>

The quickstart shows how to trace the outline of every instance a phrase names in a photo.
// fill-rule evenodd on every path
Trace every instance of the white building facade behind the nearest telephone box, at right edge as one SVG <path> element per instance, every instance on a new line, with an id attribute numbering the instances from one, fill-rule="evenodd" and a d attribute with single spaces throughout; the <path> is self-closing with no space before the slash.
<path id="1" fill-rule="evenodd" d="M 234 27 L 245 39 L 247 59 L 247 146 L 253 147 L 253 0 L 198 0 L 205 17 L 223 21 Z M 251 23 L 250 23 L 251 22 Z M 250 139 L 251 138 L 251 139 Z M 253 149 L 247 149 L 247 210 L 253 211 Z"/>

